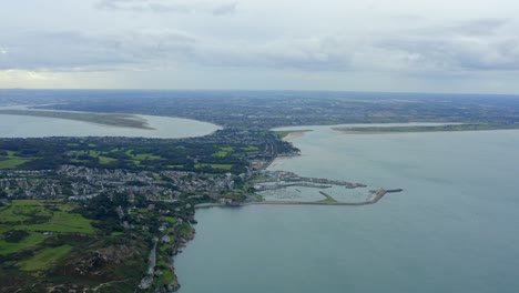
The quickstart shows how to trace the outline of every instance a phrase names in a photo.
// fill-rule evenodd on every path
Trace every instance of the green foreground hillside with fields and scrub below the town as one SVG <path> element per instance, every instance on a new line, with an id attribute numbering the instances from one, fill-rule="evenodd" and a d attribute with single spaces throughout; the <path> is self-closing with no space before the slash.
<path id="1" fill-rule="evenodd" d="M 140 291 L 177 287 L 171 256 L 193 236 L 194 211 L 183 201 L 151 204 L 98 196 L 84 205 L 21 200 L 1 206 L 0 292 L 135 292 L 157 235 L 156 277 Z"/>

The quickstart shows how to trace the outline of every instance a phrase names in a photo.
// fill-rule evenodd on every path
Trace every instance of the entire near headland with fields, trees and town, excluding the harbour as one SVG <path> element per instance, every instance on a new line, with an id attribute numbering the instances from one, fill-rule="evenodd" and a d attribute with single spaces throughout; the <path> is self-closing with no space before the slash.
<path id="1" fill-rule="evenodd" d="M 193 206 L 254 199 L 248 173 L 295 152 L 268 131 L 231 128 L 182 140 L 0 139 L 0 292 L 173 291 L 171 257 L 193 238 Z"/>

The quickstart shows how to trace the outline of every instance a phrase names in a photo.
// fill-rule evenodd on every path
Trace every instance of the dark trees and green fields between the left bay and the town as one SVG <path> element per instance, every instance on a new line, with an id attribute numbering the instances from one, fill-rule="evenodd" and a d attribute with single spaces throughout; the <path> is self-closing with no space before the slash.
<path id="1" fill-rule="evenodd" d="M 0 169 L 59 165 L 102 169 L 243 173 L 251 160 L 273 160 L 295 149 L 266 131 L 221 130 L 183 140 L 130 138 L 0 139 Z"/>

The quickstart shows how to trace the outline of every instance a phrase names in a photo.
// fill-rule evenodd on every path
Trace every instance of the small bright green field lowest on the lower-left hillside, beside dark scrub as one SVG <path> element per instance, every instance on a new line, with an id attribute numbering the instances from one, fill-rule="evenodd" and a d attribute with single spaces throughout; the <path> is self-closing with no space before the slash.
<path id="1" fill-rule="evenodd" d="M 23 271 L 39 271 L 50 269 L 54 262 L 63 259 L 72 251 L 71 245 L 61 245 L 38 251 L 32 257 L 17 264 Z"/>

